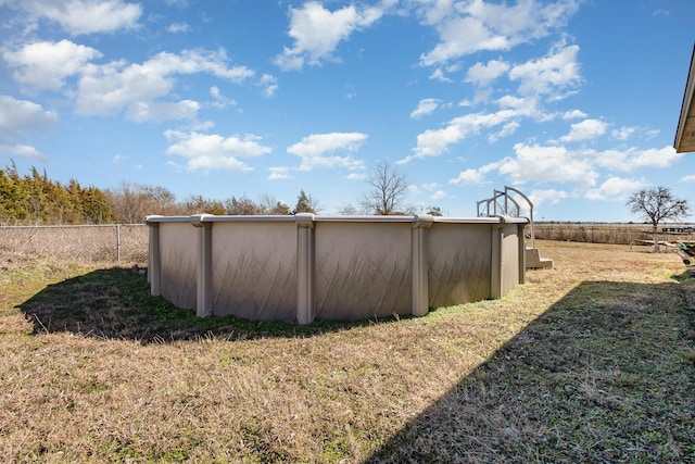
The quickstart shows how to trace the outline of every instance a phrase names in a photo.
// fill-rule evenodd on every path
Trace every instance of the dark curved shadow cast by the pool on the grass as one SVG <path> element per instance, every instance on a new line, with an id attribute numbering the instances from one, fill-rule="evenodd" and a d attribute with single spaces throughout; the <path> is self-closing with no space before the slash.
<path id="1" fill-rule="evenodd" d="M 316 322 L 300 326 L 282 322 L 249 322 L 235 316 L 197 317 L 150 294 L 147 276 L 136 268 L 98 269 L 50 285 L 17 306 L 33 322 L 34 333 L 71 331 L 142 343 L 222 338 L 309 337 L 327 331 L 393 319 L 351 323 Z"/>

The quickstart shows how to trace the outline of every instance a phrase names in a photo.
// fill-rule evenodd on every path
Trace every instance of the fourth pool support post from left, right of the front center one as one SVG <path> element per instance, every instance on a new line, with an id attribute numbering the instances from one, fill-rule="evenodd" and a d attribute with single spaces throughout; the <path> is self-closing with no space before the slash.
<path id="1" fill-rule="evenodd" d="M 434 223 L 429 214 L 415 216 L 410 239 L 413 265 L 413 315 L 425 316 L 429 312 L 427 230 Z"/>

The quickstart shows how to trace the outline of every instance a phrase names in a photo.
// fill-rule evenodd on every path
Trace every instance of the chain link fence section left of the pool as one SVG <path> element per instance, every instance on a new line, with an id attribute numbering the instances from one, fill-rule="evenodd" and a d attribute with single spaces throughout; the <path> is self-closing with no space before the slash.
<path id="1" fill-rule="evenodd" d="M 0 250 L 92 263 L 148 264 L 148 226 L 0 226 Z"/>

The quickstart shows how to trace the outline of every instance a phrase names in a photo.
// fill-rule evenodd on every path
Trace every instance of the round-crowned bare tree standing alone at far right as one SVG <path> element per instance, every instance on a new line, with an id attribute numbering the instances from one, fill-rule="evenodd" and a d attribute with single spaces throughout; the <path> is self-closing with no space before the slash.
<path id="1" fill-rule="evenodd" d="M 691 211 L 687 200 L 673 197 L 671 190 L 667 187 L 643 188 L 630 196 L 627 205 L 630 206 L 630 212 L 652 223 L 652 238 L 654 239 L 655 250 L 659 247 L 656 239 L 659 223 L 686 217 Z"/>

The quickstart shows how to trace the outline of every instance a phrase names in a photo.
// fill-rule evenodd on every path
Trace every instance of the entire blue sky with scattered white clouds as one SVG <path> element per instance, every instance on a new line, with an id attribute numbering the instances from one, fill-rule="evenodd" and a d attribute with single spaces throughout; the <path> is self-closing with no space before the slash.
<path id="1" fill-rule="evenodd" d="M 536 220 L 695 203 L 672 148 L 692 0 L 0 0 L 0 164 L 61 183 L 358 208 L 375 163 L 406 202 Z M 693 221 L 695 216 L 691 217 Z"/>

